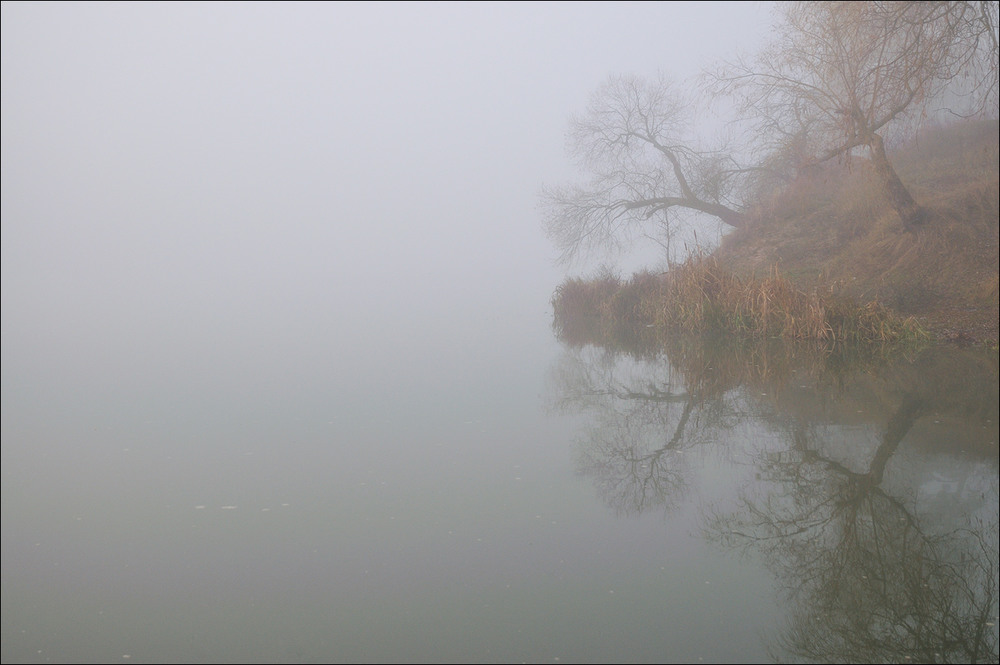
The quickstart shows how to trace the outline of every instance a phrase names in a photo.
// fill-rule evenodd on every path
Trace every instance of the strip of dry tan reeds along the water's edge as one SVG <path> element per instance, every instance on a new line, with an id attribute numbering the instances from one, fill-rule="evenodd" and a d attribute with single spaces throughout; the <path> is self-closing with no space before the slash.
<path id="1" fill-rule="evenodd" d="M 878 302 L 859 306 L 800 291 L 776 267 L 760 278 L 741 278 L 712 256 L 629 280 L 606 273 L 570 279 L 559 286 L 552 304 L 557 333 L 571 344 L 617 339 L 655 345 L 677 332 L 828 345 L 895 343 L 922 336 L 912 318 L 898 317 Z"/>

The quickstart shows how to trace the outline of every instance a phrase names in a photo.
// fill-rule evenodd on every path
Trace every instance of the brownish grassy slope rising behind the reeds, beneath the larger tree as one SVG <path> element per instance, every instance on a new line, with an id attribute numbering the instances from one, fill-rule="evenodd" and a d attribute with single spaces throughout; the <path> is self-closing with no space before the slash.
<path id="1" fill-rule="evenodd" d="M 925 130 L 893 154 L 929 212 L 915 234 L 886 205 L 865 160 L 830 164 L 762 206 L 715 255 L 737 274 L 775 264 L 803 290 L 877 299 L 943 338 L 995 344 L 1000 123 Z"/>

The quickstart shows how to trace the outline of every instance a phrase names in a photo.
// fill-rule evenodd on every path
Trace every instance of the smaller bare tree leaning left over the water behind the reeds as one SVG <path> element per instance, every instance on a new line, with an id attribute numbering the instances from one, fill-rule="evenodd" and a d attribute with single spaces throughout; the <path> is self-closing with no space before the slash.
<path id="1" fill-rule="evenodd" d="M 693 108 L 664 77 L 612 76 L 571 120 L 570 150 L 593 177 L 542 191 L 545 229 L 564 263 L 656 233 L 667 247 L 678 211 L 745 223 L 727 198 L 739 169 L 720 151 L 696 148 Z"/>

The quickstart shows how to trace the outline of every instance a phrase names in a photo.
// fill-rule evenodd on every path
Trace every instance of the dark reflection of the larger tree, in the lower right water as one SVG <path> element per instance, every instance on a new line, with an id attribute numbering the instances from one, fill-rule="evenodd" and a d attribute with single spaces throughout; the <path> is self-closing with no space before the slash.
<path id="1" fill-rule="evenodd" d="M 795 609 L 774 642 L 797 659 L 997 659 L 997 524 L 978 514 L 989 488 L 952 497 L 969 513 L 938 533 L 954 522 L 883 487 L 913 416 L 904 407 L 873 454 L 848 460 L 796 429 L 787 450 L 758 455 L 766 489 L 744 488 L 738 508 L 708 520 L 710 536 L 761 553 L 781 580 Z M 851 462 L 867 467 L 854 471 Z"/>

